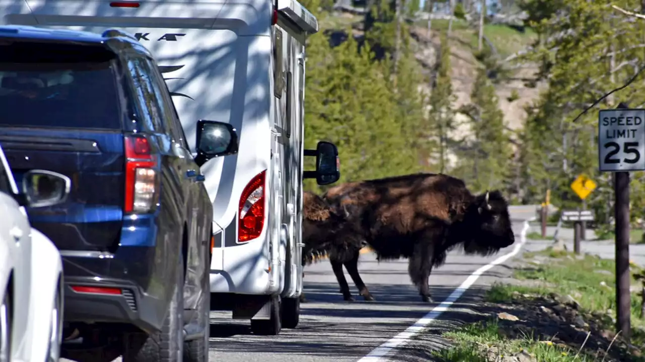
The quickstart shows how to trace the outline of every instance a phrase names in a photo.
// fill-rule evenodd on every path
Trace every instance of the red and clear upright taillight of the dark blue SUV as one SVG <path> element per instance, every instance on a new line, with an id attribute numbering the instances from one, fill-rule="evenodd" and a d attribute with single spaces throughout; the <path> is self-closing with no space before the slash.
<path id="1" fill-rule="evenodd" d="M 125 141 L 125 213 L 152 211 L 159 200 L 157 159 L 150 151 L 148 138 L 127 135 Z"/>

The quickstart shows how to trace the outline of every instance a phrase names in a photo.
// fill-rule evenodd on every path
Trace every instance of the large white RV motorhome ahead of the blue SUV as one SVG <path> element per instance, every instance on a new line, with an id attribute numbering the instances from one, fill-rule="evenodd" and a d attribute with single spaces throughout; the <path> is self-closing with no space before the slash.
<path id="1" fill-rule="evenodd" d="M 296 327 L 303 176 L 340 176 L 333 144 L 303 148 L 304 43 L 317 19 L 296 0 L 0 0 L 0 23 L 131 33 L 157 59 L 192 151 L 197 120 L 232 124 L 237 155 L 201 166 L 213 202 L 212 309 L 251 319 L 259 334 Z M 305 151 L 317 171 L 303 170 Z"/>

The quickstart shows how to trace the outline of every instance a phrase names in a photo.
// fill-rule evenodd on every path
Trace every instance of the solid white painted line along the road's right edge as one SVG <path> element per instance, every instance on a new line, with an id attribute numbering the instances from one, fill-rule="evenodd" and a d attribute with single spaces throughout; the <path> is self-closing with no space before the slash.
<path id="1" fill-rule="evenodd" d="M 428 314 L 426 314 L 423 318 L 419 319 L 416 321 L 413 325 L 408 327 L 408 329 L 404 330 L 403 332 L 397 334 L 390 340 L 386 341 L 379 347 L 376 347 L 370 352 L 367 356 L 362 357 L 361 359 L 358 360 L 358 362 L 376 362 L 376 361 L 385 361 L 387 360 L 385 356 L 395 350 L 396 348 L 402 347 L 410 339 L 412 339 L 414 336 L 417 334 L 421 333 L 430 323 L 432 323 L 433 320 L 437 319 L 439 316 L 441 316 L 441 313 L 446 312 L 450 308 L 450 306 L 457 301 L 464 292 L 468 291 L 468 288 L 477 281 L 477 278 L 481 276 L 481 274 L 484 274 L 484 272 L 488 271 L 488 269 L 491 269 L 495 265 L 499 265 L 503 262 L 506 262 L 509 258 L 512 256 L 515 256 L 520 249 L 522 249 L 522 245 L 526 243 L 526 232 L 529 229 L 529 222 L 535 220 L 535 218 L 530 218 L 529 220 L 524 221 L 524 227 L 522 227 L 522 231 L 520 233 L 520 242 L 515 244 L 515 247 L 513 248 L 513 251 L 509 252 L 508 254 L 504 254 L 500 256 L 499 258 L 493 260 L 493 262 L 484 265 L 483 267 L 477 269 L 473 274 L 470 274 L 466 280 L 464 280 L 457 289 L 455 289 L 446 300 L 442 301 L 437 307 L 434 309 L 430 310 Z"/>

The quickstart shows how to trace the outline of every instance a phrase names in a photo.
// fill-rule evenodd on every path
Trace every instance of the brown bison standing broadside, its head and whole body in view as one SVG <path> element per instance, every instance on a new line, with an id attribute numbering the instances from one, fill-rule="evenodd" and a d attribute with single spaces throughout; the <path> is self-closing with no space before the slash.
<path id="1" fill-rule="evenodd" d="M 419 173 L 350 182 L 328 189 L 323 198 L 352 224 L 333 237 L 365 240 L 379 261 L 408 258 L 408 274 L 423 301 L 432 301 L 428 278 L 433 267 L 445 262 L 448 251 L 462 245 L 466 254 L 491 255 L 515 242 L 501 193 L 472 195 L 462 180 L 448 175 Z M 353 300 L 341 263 L 363 298 L 373 300 L 356 267 L 359 250 L 353 252 L 342 260 L 330 257 L 342 295 Z"/>

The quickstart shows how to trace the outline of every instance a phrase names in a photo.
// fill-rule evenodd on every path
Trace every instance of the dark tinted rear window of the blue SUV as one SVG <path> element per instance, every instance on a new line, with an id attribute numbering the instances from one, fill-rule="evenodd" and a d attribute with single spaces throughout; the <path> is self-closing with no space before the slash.
<path id="1" fill-rule="evenodd" d="M 0 44 L 0 124 L 121 129 L 114 57 L 95 46 Z"/>

